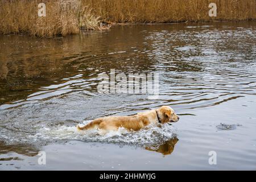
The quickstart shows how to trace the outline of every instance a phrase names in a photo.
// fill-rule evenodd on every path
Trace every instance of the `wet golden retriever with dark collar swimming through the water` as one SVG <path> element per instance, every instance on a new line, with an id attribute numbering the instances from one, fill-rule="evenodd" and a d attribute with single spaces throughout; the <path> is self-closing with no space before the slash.
<path id="1" fill-rule="evenodd" d="M 117 131 L 119 127 L 127 130 L 138 131 L 151 124 L 177 122 L 179 117 L 169 106 L 162 106 L 158 109 L 145 111 L 130 116 L 110 116 L 94 119 L 85 126 L 77 125 L 78 130 L 98 129 L 101 134 L 109 131 Z"/>

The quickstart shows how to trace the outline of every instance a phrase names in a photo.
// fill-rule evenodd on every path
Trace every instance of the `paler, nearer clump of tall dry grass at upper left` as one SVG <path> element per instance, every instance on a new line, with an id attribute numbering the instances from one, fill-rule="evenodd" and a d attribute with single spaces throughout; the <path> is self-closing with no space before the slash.
<path id="1" fill-rule="evenodd" d="M 46 17 L 38 16 L 38 4 L 46 4 Z M 76 34 L 79 29 L 96 29 L 98 17 L 81 1 L 1 0 L 0 33 L 26 32 L 36 36 Z"/>

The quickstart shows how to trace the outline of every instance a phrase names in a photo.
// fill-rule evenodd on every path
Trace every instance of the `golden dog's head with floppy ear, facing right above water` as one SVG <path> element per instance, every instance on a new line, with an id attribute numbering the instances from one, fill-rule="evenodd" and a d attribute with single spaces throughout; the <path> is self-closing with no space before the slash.
<path id="1" fill-rule="evenodd" d="M 177 122 L 179 117 L 175 114 L 174 109 L 169 106 L 162 106 L 156 109 L 161 123 Z"/>

